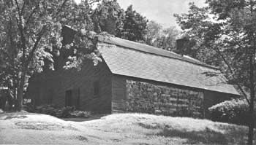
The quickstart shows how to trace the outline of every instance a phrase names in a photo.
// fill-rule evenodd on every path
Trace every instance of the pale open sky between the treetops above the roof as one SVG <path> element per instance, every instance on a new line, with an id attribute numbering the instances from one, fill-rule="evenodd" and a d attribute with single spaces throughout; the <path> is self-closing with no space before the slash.
<path id="1" fill-rule="evenodd" d="M 146 16 L 148 20 L 154 20 L 167 28 L 178 26 L 173 14 L 186 13 L 189 2 L 195 2 L 199 7 L 205 4 L 205 0 L 117 0 L 121 8 L 127 9 L 132 4 L 134 10 Z"/>

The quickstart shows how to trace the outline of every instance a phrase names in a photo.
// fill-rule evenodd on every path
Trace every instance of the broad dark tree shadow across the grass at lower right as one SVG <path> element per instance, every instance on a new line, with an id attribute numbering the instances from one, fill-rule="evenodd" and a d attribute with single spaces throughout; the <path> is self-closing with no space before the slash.
<path id="1" fill-rule="evenodd" d="M 143 128 L 156 130 L 160 129 L 160 132 L 153 133 L 157 136 L 165 137 L 178 137 L 187 139 L 186 144 L 237 144 L 243 145 L 247 142 L 247 132 L 248 129 L 244 126 L 238 125 L 214 125 L 217 130 L 222 130 L 222 132 L 217 130 L 212 130 L 211 128 L 206 128 L 201 131 L 188 131 L 173 129 L 169 125 L 146 125 L 144 123 L 139 123 Z M 151 133 L 148 135 L 152 135 Z M 256 138 L 256 133 L 255 133 Z"/>

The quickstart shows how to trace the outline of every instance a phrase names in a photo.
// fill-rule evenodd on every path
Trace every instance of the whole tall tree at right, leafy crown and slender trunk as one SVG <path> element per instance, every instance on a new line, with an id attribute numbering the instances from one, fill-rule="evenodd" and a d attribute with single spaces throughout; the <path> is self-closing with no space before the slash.
<path id="1" fill-rule="evenodd" d="M 208 7 L 189 4 L 189 13 L 175 15 L 181 29 L 196 40 L 197 59 L 214 61 L 249 103 L 248 144 L 253 144 L 255 117 L 256 1 L 208 0 Z M 204 57 L 204 54 L 206 57 Z M 209 57 L 209 55 L 211 55 Z M 209 59 L 210 58 L 210 59 Z M 249 95 L 248 93 L 249 92 Z"/>

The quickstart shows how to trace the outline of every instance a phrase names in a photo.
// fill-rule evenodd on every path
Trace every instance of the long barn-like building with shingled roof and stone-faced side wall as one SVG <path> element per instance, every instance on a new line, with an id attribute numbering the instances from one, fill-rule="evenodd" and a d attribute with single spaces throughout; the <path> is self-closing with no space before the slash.
<path id="1" fill-rule="evenodd" d="M 73 34 L 64 27 L 64 41 Z M 187 117 L 207 117 L 208 107 L 239 95 L 222 75 L 206 75 L 218 72 L 216 67 L 187 55 L 116 37 L 99 36 L 97 49 L 103 60 L 97 66 L 85 60 L 80 71 L 59 68 L 38 74 L 27 95 L 37 105 Z"/>

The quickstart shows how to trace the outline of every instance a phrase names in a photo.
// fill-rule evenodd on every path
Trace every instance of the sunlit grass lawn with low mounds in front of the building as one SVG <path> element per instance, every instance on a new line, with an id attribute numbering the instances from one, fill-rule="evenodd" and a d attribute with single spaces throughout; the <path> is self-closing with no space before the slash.
<path id="1" fill-rule="evenodd" d="M 110 114 L 73 122 L 45 114 L 0 114 L 0 144 L 246 144 L 247 128 L 206 119 Z"/>

